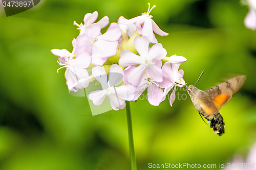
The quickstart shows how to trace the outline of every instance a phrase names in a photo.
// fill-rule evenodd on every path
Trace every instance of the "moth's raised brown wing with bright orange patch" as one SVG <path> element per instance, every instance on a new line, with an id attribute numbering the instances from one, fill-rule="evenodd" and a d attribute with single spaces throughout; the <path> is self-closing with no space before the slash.
<path id="1" fill-rule="evenodd" d="M 238 92 L 243 86 L 245 79 L 246 76 L 237 76 L 217 86 L 211 87 L 205 90 L 205 92 L 211 97 L 216 108 L 220 109 L 229 101 L 233 94 Z"/>

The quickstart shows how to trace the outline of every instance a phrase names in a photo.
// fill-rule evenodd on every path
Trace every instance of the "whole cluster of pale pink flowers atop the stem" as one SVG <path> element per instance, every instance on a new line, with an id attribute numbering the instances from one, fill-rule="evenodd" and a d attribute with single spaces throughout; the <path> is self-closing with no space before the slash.
<path id="1" fill-rule="evenodd" d="M 148 7 L 147 12 L 132 19 L 121 16 L 104 34 L 101 29 L 108 25 L 109 18 L 104 16 L 95 22 L 97 11 L 86 14 L 84 24 L 74 22 L 80 34 L 72 41 L 72 53 L 66 49 L 51 50 L 59 58 L 60 68 L 66 68 L 69 90 L 87 88 L 90 82 L 98 81 L 102 90 L 92 91 L 89 99 L 98 106 L 108 96 L 112 108 L 118 110 L 125 107 L 125 101 L 138 100 L 146 89 L 148 102 L 158 106 L 173 89 L 169 99 L 172 106 L 176 87 L 185 84 L 184 71 L 179 66 L 186 58 L 166 57 L 167 52 L 154 33 L 168 33 L 153 21 L 153 8 Z M 154 45 L 149 47 L 150 43 Z"/>

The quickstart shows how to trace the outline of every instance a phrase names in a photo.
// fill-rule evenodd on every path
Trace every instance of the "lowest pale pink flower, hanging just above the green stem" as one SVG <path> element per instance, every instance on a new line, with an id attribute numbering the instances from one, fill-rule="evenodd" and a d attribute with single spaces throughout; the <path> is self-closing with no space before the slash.
<path id="1" fill-rule="evenodd" d="M 135 91 L 133 85 L 128 84 L 115 87 L 123 77 L 123 70 L 117 64 L 110 67 L 109 81 L 107 81 L 106 71 L 100 66 L 93 67 L 92 75 L 98 82 L 100 82 L 102 87 L 102 90 L 92 91 L 89 94 L 89 99 L 93 101 L 94 105 L 101 105 L 105 97 L 108 96 L 112 108 L 114 110 L 119 110 L 125 107 L 125 101 L 133 100 Z M 118 75 L 121 75 L 121 77 Z"/>

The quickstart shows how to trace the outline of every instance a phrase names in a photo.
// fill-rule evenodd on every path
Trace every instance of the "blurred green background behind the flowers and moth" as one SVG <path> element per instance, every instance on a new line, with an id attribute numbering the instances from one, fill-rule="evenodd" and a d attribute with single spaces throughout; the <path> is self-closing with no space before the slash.
<path id="1" fill-rule="evenodd" d="M 125 109 L 92 116 L 86 98 L 69 94 L 57 57 L 86 13 L 133 18 L 148 1 L 41 1 L 6 17 L 0 8 L 0 169 L 130 169 Z M 150 1 L 157 36 L 181 64 L 186 83 L 206 90 L 230 75 L 246 75 L 243 89 L 221 109 L 225 134 L 205 125 L 184 89 L 169 106 L 131 103 L 138 169 L 148 163 L 217 164 L 246 156 L 256 141 L 256 31 L 245 28 L 248 8 L 234 0 Z M 184 94 L 184 95 L 182 95 Z M 256 159 L 256 158 L 255 158 Z M 256 161 L 256 160 L 255 160 Z M 218 169 L 218 168 L 217 168 Z"/>

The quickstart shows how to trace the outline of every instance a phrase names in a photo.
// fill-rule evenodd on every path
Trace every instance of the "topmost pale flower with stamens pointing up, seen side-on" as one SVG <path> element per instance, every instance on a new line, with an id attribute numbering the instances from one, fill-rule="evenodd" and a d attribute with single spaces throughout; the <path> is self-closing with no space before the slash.
<path id="1" fill-rule="evenodd" d="M 163 32 L 157 26 L 156 22 L 152 19 L 152 15 L 150 15 L 150 12 L 154 7 L 156 7 L 156 6 L 153 6 L 150 9 L 150 3 L 148 3 L 147 12 L 142 13 L 141 16 L 137 16 L 137 17 L 129 19 L 129 20 L 127 20 L 125 18 L 120 18 L 118 20 L 118 23 L 121 23 L 121 24 L 135 23 L 138 34 L 146 36 L 150 40 L 150 42 L 157 43 L 157 39 L 156 39 L 153 31 L 156 34 L 161 35 L 161 36 L 166 36 L 166 35 L 168 35 L 168 33 Z"/>

